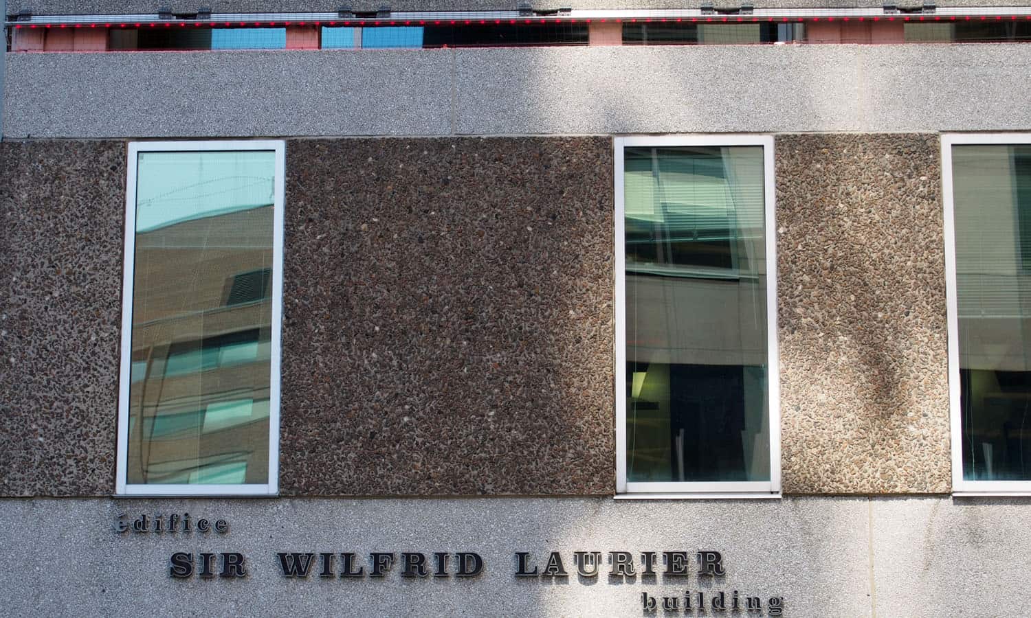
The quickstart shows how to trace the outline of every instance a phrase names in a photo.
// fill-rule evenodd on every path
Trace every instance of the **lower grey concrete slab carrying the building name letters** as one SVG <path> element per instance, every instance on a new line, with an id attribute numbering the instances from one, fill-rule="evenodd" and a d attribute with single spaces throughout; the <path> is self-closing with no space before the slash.
<path id="1" fill-rule="evenodd" d="M 112 530 L 120 513 L 131 520 L 170 512 L 223 518 L 230 531 Z M 720 590 L 763 599 L 761 613 L 709 608 L 689 615 L 765 617 L 770 596 L 784 598 L 785 616 L 872 610 L 866 499 L 4 500 L 0 522 L 0 597 L 10 615 L 670 616 L 643 613 L 641 593 L 683 598 L 686 590 L 705 592 L 706 605 Z M 698 550 L 722 552 L 726 575 L 700 577 Z M 250 575 L 172 579 L 169 559 L 177 551 L 240 552 Z M 368 571 L 369 552 L 434 551 L 477 552 L 484 573 L 405 579 L 398 564 L 381 580 L 318 572 L 288 579 L 276 556 L 355 552 Z M 562 552 L 570 575 L 518 579 L 517 551 L 531 552 L 538 569 L 547 552 Z M 579 577 L 573 551 L 603 552 L 602 574 Z M 638 569 L 642 551 L 688 551 L 689 575 L 609 577 L 608 551 L 632 552 Z M 660 553 L 660 572 L 661 560 Z"/>

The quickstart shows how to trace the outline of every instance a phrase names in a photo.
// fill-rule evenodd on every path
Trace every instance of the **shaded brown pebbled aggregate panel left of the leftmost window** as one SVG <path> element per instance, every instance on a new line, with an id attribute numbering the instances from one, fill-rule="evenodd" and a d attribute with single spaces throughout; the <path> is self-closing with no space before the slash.
<path id="1" fill-rule="evenodd" d="M 0 495 L 114 491 L 125 161 L 0 144 Z"/>

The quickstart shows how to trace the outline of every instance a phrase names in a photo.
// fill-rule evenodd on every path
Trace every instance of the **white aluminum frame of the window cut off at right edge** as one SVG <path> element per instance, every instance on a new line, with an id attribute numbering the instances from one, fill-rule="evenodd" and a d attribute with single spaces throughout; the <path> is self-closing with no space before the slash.
<path id="1" fill-rule="evenodd" d="M 953 193 L 953 146 L 1031 144 L 1031 133 L 941 134 L 941 201 L 945 244 L 945 306 L 949 324 L 949 416 L 953 464 L 953 495 L 1028 495 L 1026 481 L 968 481 L 963 478 L 963 419 L 960 383 L 959 296 L 956 282 L 956 202 Z"/>

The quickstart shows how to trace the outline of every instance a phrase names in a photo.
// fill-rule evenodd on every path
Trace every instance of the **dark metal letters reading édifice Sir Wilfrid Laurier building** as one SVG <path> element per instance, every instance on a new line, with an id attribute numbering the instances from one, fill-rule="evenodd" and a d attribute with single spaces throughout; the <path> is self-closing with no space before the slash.
<path id="1" fill-rule="evenodd" d="M 209 517 L 191 518 L 189 513 L 141 513 L 130 516 L 121 513 L 114 518 L 112 529 L 117 536 L 128 534 L 171 535 L 177 538 L 208 538 L 228 535 L 229 522 Z M 440 581 L 445 578 L 473 579 L 480 576 L 488 564 L 474 551 L 275 551 L 270 565 L 278 566 L 281 577 L 296 580 L 334 579 L 351 581 L 385 581 L 388 579 Z M 410 549 L 410 548 L 408 548 Z M 694 559 L 692 559 L 694 558 Z M 258 564 L 264 562 L 259 561 Z M 692 568 L 692 564 L 695 564 Z M 605 581 L 610 584 L 656 584 L 659 577 L 664 584 L 673 581 L 686 583 L 692 575 L 704 578 L 704 589 L 679 589 L 639 592 L 640 609 L 647 616 L 665 614 L 730 616 L 780 616 L 784 597 L 780 595 L 753 594 L 736 589 L 717 589 L 727 576 L 724 555 L 720 551 L 699 549 L 665 549 L 632 552 L 626 550 L 571 552 L 529 551 L 512 552 L 512 575 L 519 579 L 537 581 L 569 580 L 570 569 L 581 584 Z M 605 564 L 608 565 L 605 569 Z M 240 552 L 174 552 L 168 561 L 168 577 L 176 580 L 224 579 L 246 580 L 255 562 Z M 272 566 L 275 569 L 275 566 Z M 431 577 L 432 575 L 432 577 Z M 311 577 L 309 577 L 311 576 Z M 663 594 L 662 592 L 665 592 Z M 638 594 L 638 592 L 634 592 Z M 743 612 L 743 614 L 741 614 Z"/>

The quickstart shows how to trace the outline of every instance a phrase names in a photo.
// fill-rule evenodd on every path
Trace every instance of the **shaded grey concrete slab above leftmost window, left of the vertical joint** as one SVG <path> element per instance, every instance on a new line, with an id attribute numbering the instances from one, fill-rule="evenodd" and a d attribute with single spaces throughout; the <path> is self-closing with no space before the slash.
<path id="1" fill-rule="evenodd" d="M 447 52 L 47 53 L 7 61 L 7 137 L 451 132 Z"/>

